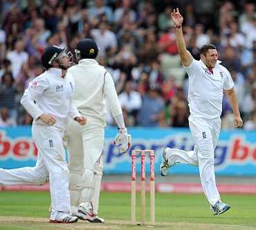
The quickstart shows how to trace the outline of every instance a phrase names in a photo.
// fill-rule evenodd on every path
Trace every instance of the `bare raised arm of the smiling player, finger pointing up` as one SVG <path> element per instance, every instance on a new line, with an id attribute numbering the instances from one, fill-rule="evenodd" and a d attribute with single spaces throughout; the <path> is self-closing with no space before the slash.
<path id="1" fill-rule="evenodd" d="M 177 47 L 179 50 L 179 55 L 181 57 L 181 62 L 183 66 L 190 66 L 191 62 L 193 61 L 193 57 L 185 46 L 185 41 L 184 41 L 183 31 L 182 31 L 183 17 L 179 12 L 179 8 L 176 8 L 176 10 L 174 9 L 174 11 L 171 14 L 171 18 L 176 28 L 176 41 L 177 41 Z"/>

